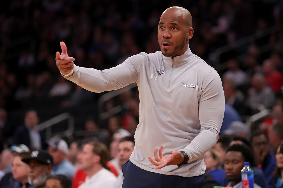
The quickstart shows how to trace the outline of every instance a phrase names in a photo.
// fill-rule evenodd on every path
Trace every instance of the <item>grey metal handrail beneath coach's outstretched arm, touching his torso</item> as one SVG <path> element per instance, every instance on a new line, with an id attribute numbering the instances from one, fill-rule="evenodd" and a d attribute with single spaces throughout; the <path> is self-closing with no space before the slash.
<path id="1" fill-rule="evenodd" d="M 117 106 L 113 107 L 112 109 L 110 109 L 106 112 L 103 112 L 104 111 L 104 102 L 109 100 L 109 99 L 112 99 L 113 97 L 116 97 L 116 96 L 120 95 L 121 93 L 128 91 L 128 90 L 130 90 L 134 87 L 137 87 L 136 83 L 130 84 L 130 85 L 128 85 L 124 88 L 121 88 L 121 89 L 109 91 L 108 93 L 102 95 L 98 99 L 98 115 L 99 115 L 99 118 L 101 120 L 104 120 L 104 119 L 111 117 L 112 115 L 115 115 L 115 114 L 121 112 L 123 110 L 123 106 L 121 106 L 121 105 L 117 105 Z"/>

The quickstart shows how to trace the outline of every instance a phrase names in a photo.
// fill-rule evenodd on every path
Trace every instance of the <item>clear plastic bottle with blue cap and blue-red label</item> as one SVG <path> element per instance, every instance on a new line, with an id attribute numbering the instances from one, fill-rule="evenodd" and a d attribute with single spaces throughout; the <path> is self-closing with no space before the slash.
<path id="1" fill-rule="evenodd" d="M 250 162 L 244 163 L 241 176 L 243 188 L 254 188 L 254 170 L 250 168 Z"/>

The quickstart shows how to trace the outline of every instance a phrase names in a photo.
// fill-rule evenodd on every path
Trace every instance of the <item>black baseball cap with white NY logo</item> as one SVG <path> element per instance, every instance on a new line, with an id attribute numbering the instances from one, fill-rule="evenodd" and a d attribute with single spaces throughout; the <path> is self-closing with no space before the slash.
<path id="1" fill-rule="evenodd" d="M 45 165 L 53 165 L 53 157 L 44 150 L 32 150 L 30 157 L 22 159 L 23 162 L 29 164 L 29 161 L 35 159 L 39 163 Z"/>

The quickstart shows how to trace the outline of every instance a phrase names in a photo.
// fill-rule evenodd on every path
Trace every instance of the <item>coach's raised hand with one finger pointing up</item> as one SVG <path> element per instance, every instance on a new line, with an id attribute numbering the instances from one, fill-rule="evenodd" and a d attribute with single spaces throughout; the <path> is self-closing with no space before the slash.
<path id="1" fill-rule="evenodd" d="M 69 57 L 67 53 L 67 46 L 65 42 L 60 42 L 62 53 L 59 52 L 55 54 L 56 65 L 59 71 L 63 75 L 68 75 L 74 69 L 74 60 L 75 58 Z"/>

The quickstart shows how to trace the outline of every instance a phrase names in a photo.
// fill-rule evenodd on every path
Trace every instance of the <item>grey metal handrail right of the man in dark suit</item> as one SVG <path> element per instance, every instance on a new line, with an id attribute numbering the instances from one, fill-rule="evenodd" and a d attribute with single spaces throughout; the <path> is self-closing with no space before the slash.
<path id="1" fill-rule="evenodd" d="M 64 120 L 68 120 L 68 128 L 62 132 L 52 132 L 51 128 L 53 125 L 60 123 Z M 65 112 L 60 115 L 57 115 L 43 123 L 39 124 L 40 130 L 46 129 L 46 139 L 50 139 L 52 137 L 67 137 L 69 141 L 73 139 L 74 133 L 74 118 L 69 113 Z"/>

